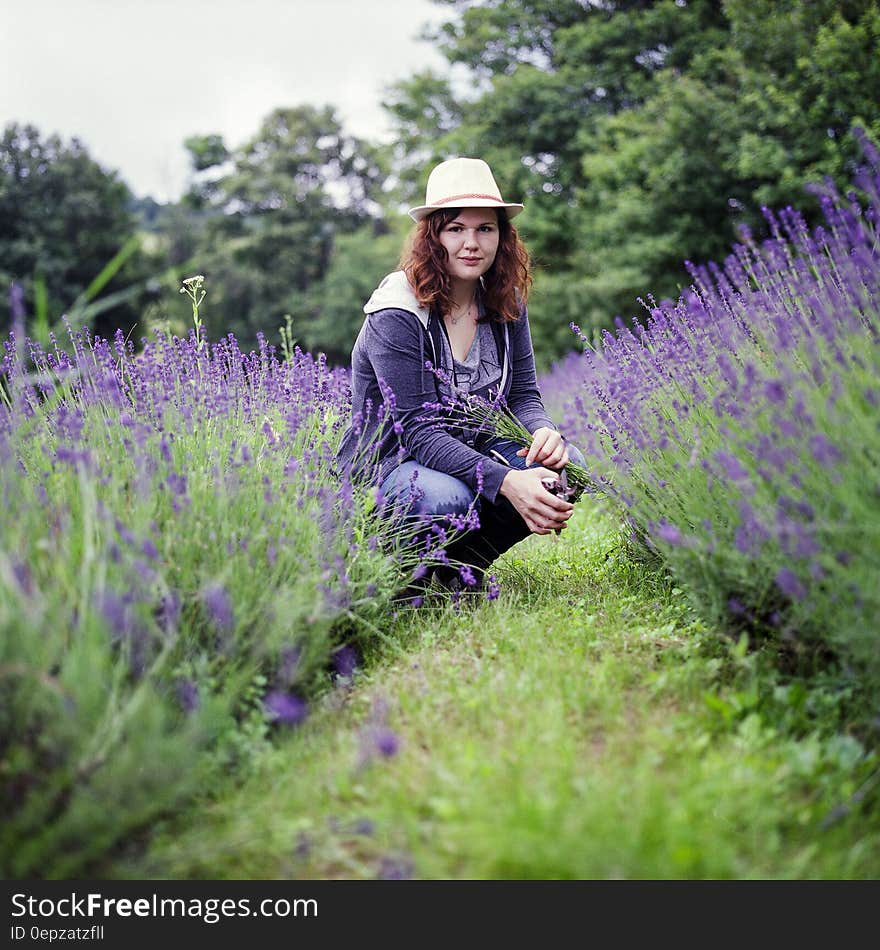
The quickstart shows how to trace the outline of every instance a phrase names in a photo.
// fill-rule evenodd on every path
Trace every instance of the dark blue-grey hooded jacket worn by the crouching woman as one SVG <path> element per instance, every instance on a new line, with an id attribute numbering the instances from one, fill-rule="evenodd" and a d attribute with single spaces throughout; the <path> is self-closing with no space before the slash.
<path id="1" fill-rule="evenodd" d="M 482 300 L 478 299 L 478 304 L 483 318 Z M 419 306 L 403 271 L 382 280 L 364 313 L 351 352 L 352 422 L 337 453 L 339 467 L 350 467 L 355 474 L 369 471 L 380 482 L 395 466 L 412 459 L 460 479 L 476 492 L 480 463 L 482 494 L 494 502 L 510 469 L 427 418 L 436 417 L 436 413 L 424 408 L 425 403 L 436 403 L 449 394 L 449 387 L 426 366 L 430 362 L 452 375 L 450 350 L 442 344 L 443 321 Z M 507 408 L 529 432 L 541 426 L 555 429 L 538 391 L 526 308 L 517 321 L 493 321 L 491 326 L 501 365 L 498 388 Z M 380 380 L 386 393 L 392 394 L 390 421 L 377 418 L 378 407 L 385 402 Z M 491 399 L 497 393 L 492 388 L 491 392 L 477 391 L 477 395 Z M 369 458 L 364 447 L 370 450 Z"/>

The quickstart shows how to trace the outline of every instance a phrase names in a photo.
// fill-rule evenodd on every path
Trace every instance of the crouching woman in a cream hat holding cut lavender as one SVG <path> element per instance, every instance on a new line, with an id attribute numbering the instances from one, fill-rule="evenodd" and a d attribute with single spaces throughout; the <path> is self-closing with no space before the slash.
<path id="1" fill-rule="evenodd" d="M 352 350 L 353 424 L 339 464 L 363 467 L 359 448 L 369 445 L 382 495 L 413 516 L 478 512 L 479 529 L 447 548 L 450 561 L 470 569 L 437 568 L 447 587 L 457 578 L 479 586 L 489 564 L 529 533 L 564 529 L 573 506 L 542 479 L 554 478 L 570 458 L 583 464 L 537 388 L 526 310 L 529 257 L 510 220 L 522 210 L 501 197 L 484 161 L 437 165 L 425 204 L 409 211 L 417 227 L 401 269 L 367 302 Z M 531 444 L 438 424 L 425 405 L 451 387 L 490 400 L 500 393 L 532 433 Z M 384 415 L 376 412 L 381 404 Z"/>

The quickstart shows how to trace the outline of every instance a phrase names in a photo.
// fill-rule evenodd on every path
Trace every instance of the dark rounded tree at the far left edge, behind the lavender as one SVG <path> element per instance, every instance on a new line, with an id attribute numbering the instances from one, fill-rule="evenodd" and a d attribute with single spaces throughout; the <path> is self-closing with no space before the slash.
<path id="1" fill-rule="evenodd" d="M 8 290 L 24 290 L 33 314 L 45 288 L 53 321 L 66 313 L 136 233 L 131 192 L 77 139 L 42 138 L 32 125 L 12 123 L 0 138 L 0 328 L 11 320 Z M 133 247 L 133 243 L 128 245 Z M 149 262 L 130 256 L 102 288 L 116 303 L 91 321 L 109 336 L 128 329 L 149 296 Z"/>

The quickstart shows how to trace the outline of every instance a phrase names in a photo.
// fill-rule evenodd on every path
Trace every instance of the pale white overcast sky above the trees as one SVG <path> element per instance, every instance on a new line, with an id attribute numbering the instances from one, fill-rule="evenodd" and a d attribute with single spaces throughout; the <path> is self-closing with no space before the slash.
<path id="1" fill-rule="evenodd" d="M 445 60 L 430 0 L 0 0 L 0 128 L 79 138 L 135 194 L 176 200 L 183 140 L 243 144 L 278 106 L 387 138 L 385 86 Z"/>

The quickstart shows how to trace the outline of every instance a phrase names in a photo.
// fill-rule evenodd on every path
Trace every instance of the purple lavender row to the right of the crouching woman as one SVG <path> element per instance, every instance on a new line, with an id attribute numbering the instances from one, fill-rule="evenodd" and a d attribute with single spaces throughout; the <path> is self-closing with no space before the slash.
<path id="1" fill-rule="evenodd" d="M 602 490 L 720 629 L 880 689 L 880 161 L 765 209 L 677 302 L 544 380 Z M 577 330 L 576 327 L 574 327 Z"/>

